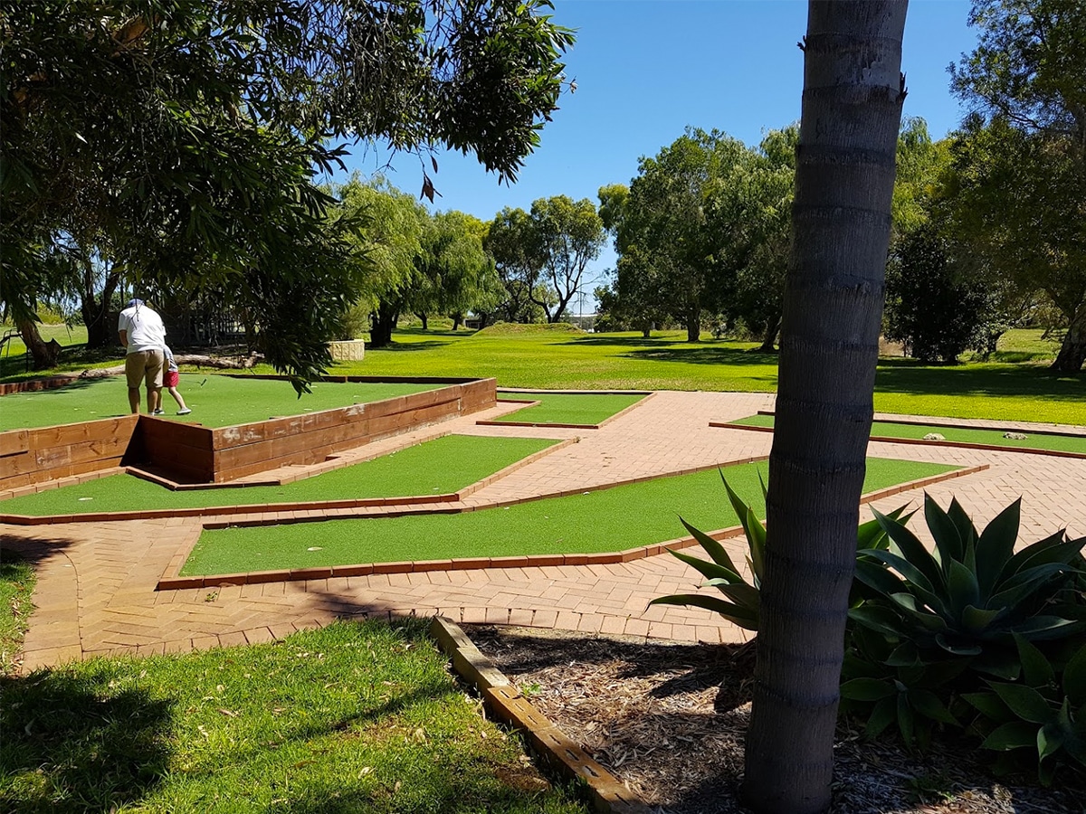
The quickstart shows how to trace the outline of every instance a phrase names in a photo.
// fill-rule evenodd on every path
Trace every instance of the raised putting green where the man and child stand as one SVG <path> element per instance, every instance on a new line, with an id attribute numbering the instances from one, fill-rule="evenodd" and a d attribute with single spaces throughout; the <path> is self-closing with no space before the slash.
<path id="1" fill-rule="evenodd" d="M 255 377 L 181 373 L 178 392 L 192 412 L 177 416 L 177 404 L 162 391 L 162 406 L 168 418 L 199 422 L 204 427 L 232 427 L 273 417 L 368 404 L 384 398 L 421 393 L 440 384 L 382 382 L 314 382 L 312 393 L 301 397 L 289 382 Z M 140 409 L 147 408 L 147 393 L 140 392 Z M 96 421 L 128 415 L 128 385 L 123 376 L 79 380 L 55 390 L 14 393 L 0 398 L 0 431 L 21 430 L 77 421 Z"/>

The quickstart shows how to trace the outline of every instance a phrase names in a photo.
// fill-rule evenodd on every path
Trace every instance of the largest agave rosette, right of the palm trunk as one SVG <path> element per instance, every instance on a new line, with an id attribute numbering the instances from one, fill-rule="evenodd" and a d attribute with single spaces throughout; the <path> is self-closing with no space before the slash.
<path id="1" fill-rule="evenodd" d="M 856 578 L 867 595 L 850 619 L 896 644 L 898 664 L 965 657 L 976 670 L 1013 678 L 1013 634 L 1036 641 L 1086 629 L 1078 589 L 1086 537 L 1070 540 L 1061 530 L 1015 554 L 1020 517 L 1021 499 L 977 534 L 957 500 L 944 511 L 925 495 L 931 554 L 897 519 L 875 511 L 891 546 L 859 554 Z"/>

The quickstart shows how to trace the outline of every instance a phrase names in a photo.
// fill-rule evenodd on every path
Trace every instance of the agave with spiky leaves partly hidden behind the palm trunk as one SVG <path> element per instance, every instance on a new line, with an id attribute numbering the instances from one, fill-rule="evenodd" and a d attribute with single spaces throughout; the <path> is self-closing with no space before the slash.
<path id="1" fill-rule="evenodd" d="M 761 576 L 765 569 L 766 526 L 758 520 L 754 509 L 735 494 L 735 491 L 724 479 L 723 472 L 720 473 L 720 480 L 724 484 L 728 499 L 746 535 L 748 550 L 746 563 L 750 571 L 752 582 L 748 583 L 743 577 L 731 556 L 719 542 L 679 518 L 686 531 L 709 555 L 709 560 L 703 560 L 682 551 L 672 550 L 671 554 L 695 568 L 706 578 L 700 587 L 716 588 L 724 595 L 724 598 L 704 594 L 673 594 L 657 597 L 649 605 L 683 605 L 705 608 L 719 613 L 744 629 L 757 632 L 761 608 Z M 766 482 L 761 479 L 761 473 L 758 474 L 758 480 L 761 483 L 761 496 L 765 501 Z M 908 522 L 909 516 L 901 517 L 906 507 L 902 506 L 885 517 L 899 520 L 902 523 Z M 857 530 L 856 547 L 858 550 L 885 549 L 888 545 L 886 533 L 876 520 L 863 523 Z"/>

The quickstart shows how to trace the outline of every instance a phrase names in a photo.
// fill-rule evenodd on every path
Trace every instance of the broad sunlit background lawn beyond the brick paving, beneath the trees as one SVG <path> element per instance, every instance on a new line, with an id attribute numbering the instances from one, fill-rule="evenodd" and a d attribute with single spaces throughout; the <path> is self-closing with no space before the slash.
<path id="1" fill-rule="evenodd" d="M 528 328 L 529 330 L 522 330 Z M 498 386 L 551 390 L 706 390 L 773 392 L 776 355 L 757 344 L 685 341 L 685 333 L 580 333 L 496 326 L 467 331 L 397 331 L 387 349 L 366 349 L 337 373 L 369 376 L 488 376 Z M 884 357 L 875 379 L 875 409 L 919 416 L 1052 421 L 1086 425 L 1086 374 L 1060 376 L 1036 361 L 1040 331 L 1013 331 L 1014 361 L 924 366 Z M 1048 358 L 1055 355 L 1055 352 Z M 997 353 L 996 359 L 1000 356 Z M 1034 361 L 1020 361 L 1031 359 Z"/>

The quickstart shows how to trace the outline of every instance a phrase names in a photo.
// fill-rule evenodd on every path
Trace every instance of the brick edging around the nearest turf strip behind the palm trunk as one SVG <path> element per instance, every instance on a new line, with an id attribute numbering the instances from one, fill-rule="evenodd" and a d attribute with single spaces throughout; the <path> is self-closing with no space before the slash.
<path id="1" fill-rule="evenodd" d="M 741 463 L 752 463 L 759 460 L 766 460 L 766 456 L 758 458 L 749 458 L 742 461 L 729 461 L 729 466 L 741 465 Z M 673 474 L 689 474 L 693 472 L 705 471 L 706 469 L 716 469 L 717 466 L 724 465 L 714 465 L 712 467 L 700 467 L 698 469 L 691 470 L 690 472 L 679 472 Z M 907 481 L 906 483 L 899 483 L 896 486 L 888 486 L 884 489 L 879 489 L 876 492 L 871 492 L 863 495 L 860 498 L 860 506 L 864 504 L 872 503 L 874 500 L 880 500 L 884 497 L 893 497 L 894 495 L 900 494 L 902 492 L 908 492 L 910 489 L 923 488 L 925 486 L 931 486 L 936 483 L 942 483 L 944 481 L 949 481 L 954 478 L 961 478 L 963 475 L 975 474 L 976 472 L 983 472 L 988 469 L 987 463 L 982 463 L 976 467 L 964 467 L 962 469 L 951 470 L 950 472 L 943 472 L 937 475 L 931 475 L 930 478 L 921 478 L 915 481 Z M 654 478 L 637 478 L 631 481 L 623 481 L 621 483 L 615 483 L 605 488 L 611 488 L 614 486 L 624 485 L 626 483 L 640 483 L 642 481 L 655 480 L 655 478 L 665 475 L 655 475 Z M 572 494 L 580 494 L 583 489 L 572 489 L 563 493 L 556 493 L 552 495 L 541 495 L 539 497 L 529 498 L 531 500 L 539 500 L 546 497 L 566 497 Z M 488 507 L 471 507 L 467 509 L 468 511 L 473 511 L 477 508 L 500 508 L 502 506 L 515 506 L 517 504 L 528 503 L 527 499 L 520 500 L 506 500 L 502 503 L 496 503 L 493 506 Z M 456 514 L 464 511 L 464 509 L 440 509 L 440 513 Z M 387 517 L 397 517 L 406 513 L 417 513 L 417 512 L 389 512 Z M 244 523 L 245 525 L 276 525 L 280 522 L 306 522 L 306 520 L 324 520 L 325 517 L 315 518 L 291 518 L 285 521 L 278 521 L 275 519 L 255 519 L 253 521 Z M 204 524 L 200 532 L 204 529 L 222 529 L 227 525 L 240 525 L 241 523 L 207 523 Z M 717 540 L 728 539 L 730 537 L 735 537 L 743 534 L 743 526 L 735 525 L 729 529 L 722 529 L 719 531 L 710 532 L 709 536 Z M 199 539 L 199 534 L 195 539 Z M 646 557 L 655 557 L 656 555 L 664 554 L 668 550 L 680 550 L 683 548 L 690 548 L 697 545 L 697 540 L 693 537 L 679 537 L 675 539 L 666 540 L 664 543 L 655 543 L 648 546 L 639 546 L 637 548 L 628 548 L 622 551 L 608 551 L 605 554 L 577 554 L 577 555 L 522 555 L 519 557 L 470 557 L 470 558 L 458 558 L 450 560 L 414 560 L 414 561 L 402 561 L 402 562 L 376 562 L 376 563 L 361 563 L 352 565 L 318 565 L 315 568 L 305 569 L 280 569 L 275 571 L 250 571 L 245 573 L 237 574 L 203 574 L 198 576 L 178 576 L 177 573 L 184 565 L 185 561 L 188 559 L 189 552 L 192 550 L 192 546 L 195 545 L 195 539 L 189 542 L 186 540 L 184 546 L 178 548 L 178 554 L 174 556 L 171 560 L 169 567 L 164 572 L 162 578 L 155 585 L 155 590 L 181 590 L 186 588 L 210 588 L 210 587 L 228 587 L 235 585 L 255 585 L 258 583 L 269 583 L 269 582 L 296 582 L 304 580 L 328 580 L 339 576 L 369 576 L 370 574 L 406 574 L 406 573 L 421 573 L 426 571 L 467 571 L 473 569 L 485 569 L 485 568 L 542 568 L 545 565 L 608 565 L 617 564 L 620 562 L 630 562 L 632 560 L 640 560 Z"/>

